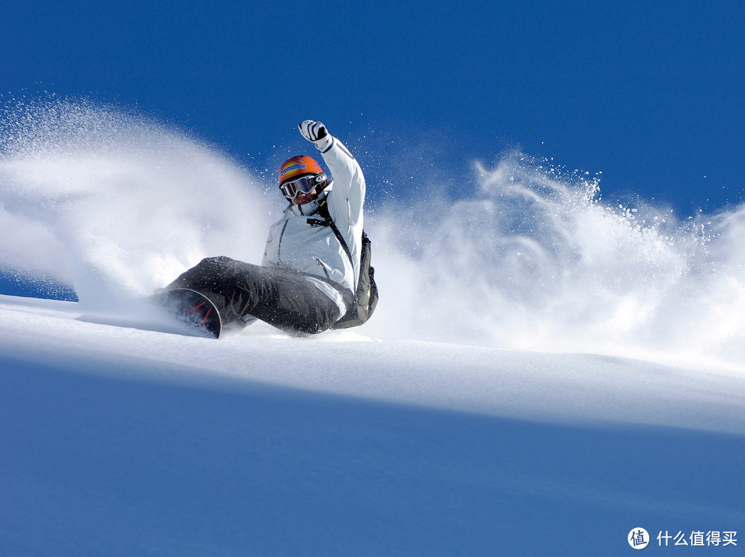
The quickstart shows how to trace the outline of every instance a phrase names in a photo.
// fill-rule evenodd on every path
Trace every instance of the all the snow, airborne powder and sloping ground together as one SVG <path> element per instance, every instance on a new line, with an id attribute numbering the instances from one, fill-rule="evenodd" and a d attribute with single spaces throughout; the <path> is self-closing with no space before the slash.
<path id="1" fill-rule="evenodd" d="M 206 255 L 255 261 L 276 192 L 132 115 L 40 112 L 0 145 L 0 270 L 80 302 L 0 294 L 0 555 L 742 537 L 743 209 L 662 226 L 509 155 L 473 197 L 371 207 L 364 327 L 208 340 L 143 295 Z"/>

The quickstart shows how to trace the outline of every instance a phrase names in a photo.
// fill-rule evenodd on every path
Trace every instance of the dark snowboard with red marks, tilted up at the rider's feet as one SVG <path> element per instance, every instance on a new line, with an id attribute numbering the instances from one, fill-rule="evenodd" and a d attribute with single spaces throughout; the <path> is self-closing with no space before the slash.
<path id="1" fill-rule="evenodd" d="M 222 319 L 209 298 L 191 288 L 174 288 L 153 296 L 153 300 L 176 320 L 200 337 L 219 338 Z"/>

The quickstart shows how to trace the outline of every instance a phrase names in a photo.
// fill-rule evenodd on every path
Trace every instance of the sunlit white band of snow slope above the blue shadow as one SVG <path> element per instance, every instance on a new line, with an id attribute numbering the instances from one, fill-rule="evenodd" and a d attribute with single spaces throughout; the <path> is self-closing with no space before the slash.
<path id="1" fill-rule="evenodd" d="M 27 357 L 42 363 L 75 361 L 66 366 L 70 370 L 98 369 L 99 362 L 110 361 L 145 378 L 161 376 L 163 368 L 183 369 L 200 380 L 238 379 L 504 418 L 744 431 L 745 377 L 738 372 L 594 354 L 376 340 L 354 330 L 288 337 L 267 325 L 210 342 L 167 334 L 178 329 L 147 305 L 136 305 L 139 315 L 150 318 L 140 323 L 77 306 L 0 296 L 3 322 L 13 323 L 0 346 L 8 354 L 25 346 Z"/>

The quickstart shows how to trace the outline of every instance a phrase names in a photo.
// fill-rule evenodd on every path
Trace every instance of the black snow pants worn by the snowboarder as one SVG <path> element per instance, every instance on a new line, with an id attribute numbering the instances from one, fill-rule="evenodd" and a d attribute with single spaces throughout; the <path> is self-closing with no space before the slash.
<path id="1" fill-rule="evenodd" d="M 284 331 L 320 333 L 339 318 L 338 306 L 302 275 L 228 257 L 200 261 L 168 284 L 203 293 L 220 312 L 223 327 L 256 317 Z"/>

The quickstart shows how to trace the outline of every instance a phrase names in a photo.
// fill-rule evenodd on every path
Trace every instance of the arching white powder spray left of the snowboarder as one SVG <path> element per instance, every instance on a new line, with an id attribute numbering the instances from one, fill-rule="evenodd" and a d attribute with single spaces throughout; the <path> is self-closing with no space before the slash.
<path id="1" fill-rule="evenodd" d="M 266 214 L 247 172 L 142 115 L 54 96 L 4 106 L 0 267 L 56 276 L 81 302 L 149 293 L 206 255 L 256 258 Z"/>

